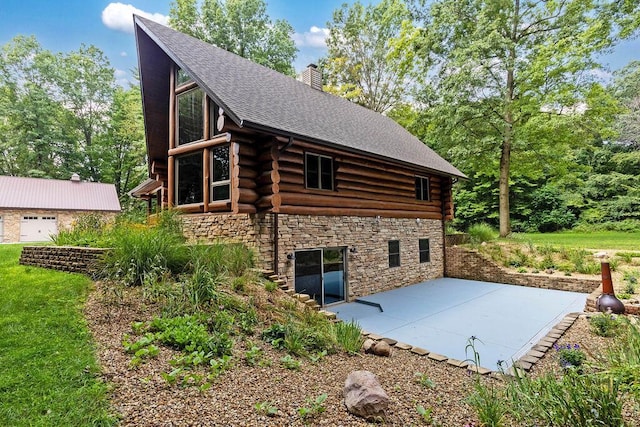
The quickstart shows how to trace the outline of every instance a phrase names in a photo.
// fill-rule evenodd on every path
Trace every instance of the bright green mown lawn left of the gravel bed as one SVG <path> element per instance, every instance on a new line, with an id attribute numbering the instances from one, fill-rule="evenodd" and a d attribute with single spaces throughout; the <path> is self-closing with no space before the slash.
<path id="1" fill-rule="evenodd" d="M 91 281 L 0 245 L 0 425 L 113 425 L 82 316 Z"/>

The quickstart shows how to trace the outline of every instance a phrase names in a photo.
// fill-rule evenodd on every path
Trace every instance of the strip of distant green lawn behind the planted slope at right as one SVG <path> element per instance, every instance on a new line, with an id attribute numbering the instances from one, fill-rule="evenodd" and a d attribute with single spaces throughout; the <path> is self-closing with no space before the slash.
<path id="1" fill-rule="evenodd" d="M 587 233 L 564 231 L 558 233 L 513 233 L 512 237 L 507 240 L 583 249 L 640 251 L 640 232 L 594 231 Z"/>

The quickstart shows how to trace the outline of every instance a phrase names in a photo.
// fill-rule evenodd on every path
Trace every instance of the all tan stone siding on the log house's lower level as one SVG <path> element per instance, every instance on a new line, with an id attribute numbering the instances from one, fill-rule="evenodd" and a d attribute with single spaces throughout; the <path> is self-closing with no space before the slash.
<path id="1" fill-rule="evenodd" d="M 185 215 L 183 226 L 190 241 L 225 240 L 254 248 L 258 266 L 272 269 L 274 214 Z M 442 277 L 442 222 L 407 218 L 314 216 L 278 214 L 278 273 L 294 285 L 297 250 L 352 248 L 347 251 L 346 279 L 349 300 L 425 280 Z M 418 239 L 430 239 L 430 262 L 420 263 Z M 400 266 L 389 268 L 388 241 L 400 241 Z"/>

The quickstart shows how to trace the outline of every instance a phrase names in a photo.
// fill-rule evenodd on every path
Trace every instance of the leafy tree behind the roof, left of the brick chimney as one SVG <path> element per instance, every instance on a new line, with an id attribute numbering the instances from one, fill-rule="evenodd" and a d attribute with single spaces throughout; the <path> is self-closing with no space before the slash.
<path id="1" fill-rule="evenodd" d="M 297 48 L 293 27 L 272 22 L 264 0 L 175 0 L 169 24 L 178 31 L 214 44 L 258 64 L 295 75 Z"/>

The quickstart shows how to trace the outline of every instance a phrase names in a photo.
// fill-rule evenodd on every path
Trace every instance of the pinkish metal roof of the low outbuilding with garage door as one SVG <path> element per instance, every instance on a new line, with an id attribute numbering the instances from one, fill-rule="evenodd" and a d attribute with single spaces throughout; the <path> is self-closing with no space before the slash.
<path id="1" fill-rule="evenodd" d="M 120 212 L 113 184 L 0 176 L 0 209 Z"/>

